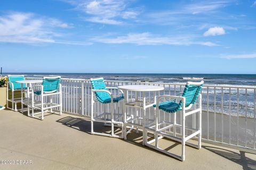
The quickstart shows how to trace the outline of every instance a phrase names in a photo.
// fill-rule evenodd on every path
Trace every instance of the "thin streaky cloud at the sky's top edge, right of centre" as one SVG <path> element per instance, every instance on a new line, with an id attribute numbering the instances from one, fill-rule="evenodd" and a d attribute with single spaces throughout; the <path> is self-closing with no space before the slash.
<path id="1" fill-rule="evenodd" d="M 172 25 L 174 29 L 197 29 L 202 23 L 214 23 L 220 20 L 234 21 L 234 14 L 231 15 L 222 8 L 234 3 L 236 0 L 198 0 L 180 1 L 169 5 L 169 10 L 154 10 L 142 13 L 136 21 L 156 25 Z M 223 18 L 225 15 L 225 18 Z M 236 20 L 237 21 L 237 20 Z M 214 24 L 215 25 L 215 24 Z"/>

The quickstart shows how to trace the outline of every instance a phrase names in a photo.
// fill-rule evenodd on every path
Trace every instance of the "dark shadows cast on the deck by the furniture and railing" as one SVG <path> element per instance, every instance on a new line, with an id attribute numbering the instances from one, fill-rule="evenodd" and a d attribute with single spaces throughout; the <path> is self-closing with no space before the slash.
<path id="1" fill-rule="evenodd" d="M 85 132 L 90 134 L 91 130 L 91 122 L 90 120 L 86 120 L 85 118 L 77 118 L 72 116 L 63 117 L 57 122 L 62 123 L 63 125 L 66 125 L 70 128 Z M 94 129 L 97 132 L 101 133 L 108 133 L 110 134 L 110 127 L 103 126 L 102 123 L 94 122 Z M 121 133 L 121 129 L 115 128 L 115 133 Z M 148 134 L 149 140 L 153 139 L 153 134 Z M 142 132 L 139 131 L 139 133 L 131 133 L 127 135 L 127 140 L 123 140 L 125 142 L 131 143 L 135 146 L 146 148 L 148 150 L 157 152 L 158 154 L 164 155 L 161 152 L 158 152 L 154 149 L 150 149 L 148 147 L 142 146 Z M 165 141 L 172 141 L 169 139 L 165 139 Z M 179 146 L 180 143 L 172 141 L 172 145 L 165 148 L 165 150 L 171 150 L 177 146 Z M 188 146 L 189 147 L 189 146 Z M 213 152 L 214 154 L 217 154 L 223 158 L 226 158 L 230 160 L 231 162 L 234 162 L 238 165 L 241 165 L 244 170 L 255 170 L 256 169 L 256 160 L 246 157 L 246 154 L 249 154 L 244 151 L 239 151 L 239 153 L 231 151 L 229 149 L 224 149 L 222 147 L 212 147 L 212 146 L 202 146 L 202 148 L 209 150 Z M 167 155 L 165 155 L 168 157 Z M 172 158 L 172 157 L 171 157 Z M 173 158 L 175 159 L 175 158 Z"/>

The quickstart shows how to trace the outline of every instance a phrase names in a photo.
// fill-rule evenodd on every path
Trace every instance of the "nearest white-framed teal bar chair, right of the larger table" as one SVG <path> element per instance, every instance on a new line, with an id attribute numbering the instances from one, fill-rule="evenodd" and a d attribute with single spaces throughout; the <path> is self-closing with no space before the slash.
<path id="1" fill-rule="evenodd" d="M 154 138 L 151 141 L 146 142 L 146 146 L 153 148 L 155 150 L 161 151 L 164 154 L 175 157 L 180 160 L 185 160 L 185 144 L 191 147 L 201 148 L 201 132 L 202 132 L 202 96 L 200 94 L 201 89 L 203 87 L 204 81 L 201 82 L 187 82 L 185 89 L 182 93 L 182 96 L 169 96 L 164 95 L 160 96 L 157 100 L 157 103 L 154 107 L 155 110 L 155 125 L 146 128 L 146 133 L 148 131 L 154 132 Z M 160 103 L 163 98 L 171 98 L 174 101 L 165 101 Z M 198 98 L 198 108 L 192 106 L 195 105 Z M 176 102 L 176 100 L 180 100 Z M 159 110 L 162 110 L 166 113 L 170 113 L 174 115 L 174 122 L 159 122 Z M 176 112 L 181 112 L 181 124 L 178 124 L 176 121 Z M 186 126 L 186 117 L 192 114 L 198 113 L 198 128 L 190 128 Z M 167 132 L 173 128 L 173 132 Z M 177 128 L 180 128 L 180 133 L 177 132 Z M 192 133 L 189 135 L 185 134 L 185 129 L 191 131 Z M 158 137 L 159 135 L 159 137 Z M 194 145 L 193 143 L 187 142 L 189 139 L 198 135 L 198 145 Z M 174 141 L 178 141 L 181 143 L 181 156 L 173 154 L 165 149 L 162 149 L 158 146 L 158 140 L 162 138 L 169 138 Z M 155 145 L 151 145 L 151 143 L 155 142 Z"/>

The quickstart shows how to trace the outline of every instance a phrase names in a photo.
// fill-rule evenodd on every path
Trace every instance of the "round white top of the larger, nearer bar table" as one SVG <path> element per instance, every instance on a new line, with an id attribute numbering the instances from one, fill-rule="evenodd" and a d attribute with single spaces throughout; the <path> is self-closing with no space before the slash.
<path id="1" fill-rule="evenodd" d="M 150 85 L 126 85 L 118 86 L 118 89 L 129 91 L 160 91 L 164 90 L 162 86 L 150 86 Z"/>

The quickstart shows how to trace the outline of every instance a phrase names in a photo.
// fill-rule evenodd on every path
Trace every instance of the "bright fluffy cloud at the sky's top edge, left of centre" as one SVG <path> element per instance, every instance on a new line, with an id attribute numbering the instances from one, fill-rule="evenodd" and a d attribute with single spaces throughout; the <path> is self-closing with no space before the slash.
<path id="1" fill-rule="evenodd" d="M 127 0 L 83 0 L 65 1 L 76 6 L 87 16 L 83 19 L 89 22 L 120 25 L 122 19 L 135 19 L 139 14 L 134 9 L 127 8 Z"/>

